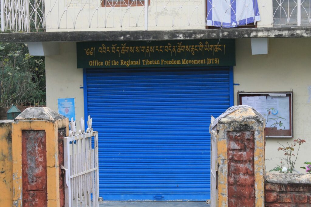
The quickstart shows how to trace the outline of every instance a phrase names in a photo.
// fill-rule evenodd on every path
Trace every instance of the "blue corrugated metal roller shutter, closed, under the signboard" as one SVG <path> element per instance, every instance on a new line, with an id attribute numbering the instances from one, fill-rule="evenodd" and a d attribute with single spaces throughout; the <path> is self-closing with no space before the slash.
<path id="1" fill-rule="evenodd" d="M 230 105 L 229 68 L 85 75 L 104 200 L 210 199 L 209 123 Z"/>

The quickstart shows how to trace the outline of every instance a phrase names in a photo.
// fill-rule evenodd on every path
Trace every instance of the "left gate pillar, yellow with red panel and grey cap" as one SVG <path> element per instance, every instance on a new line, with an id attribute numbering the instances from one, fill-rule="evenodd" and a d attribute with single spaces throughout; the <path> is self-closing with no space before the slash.
<path id="1" fill-rule="evenodd" d="M 64 206 L 63 137 L 68 119 L 47 107 L 27 108 L 12 123 L 13 206 Z"/>

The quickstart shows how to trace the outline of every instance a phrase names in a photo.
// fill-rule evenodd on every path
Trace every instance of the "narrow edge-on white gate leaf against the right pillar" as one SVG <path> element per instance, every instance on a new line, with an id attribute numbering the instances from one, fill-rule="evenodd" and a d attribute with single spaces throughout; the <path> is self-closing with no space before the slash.
<path id="1" fill-rule="evenodd" d="M 211 116 L 211 125 L 214 123 L 215 118 Z M 218 171 L 218 154 L 217 154 L 217 132 L 211 130 L 211 207 L 216 206 L 218 199 L 217 189 L 217 171 Z"/>

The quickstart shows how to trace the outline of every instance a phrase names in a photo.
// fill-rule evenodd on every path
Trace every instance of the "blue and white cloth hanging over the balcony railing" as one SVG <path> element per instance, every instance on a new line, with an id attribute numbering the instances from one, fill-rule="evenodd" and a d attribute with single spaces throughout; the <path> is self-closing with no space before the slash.
<path id="1" fill-rule="evenodd" d="M 257 0 L 207 0 L 208 26 L 237 27 L 260 21 Z"/>

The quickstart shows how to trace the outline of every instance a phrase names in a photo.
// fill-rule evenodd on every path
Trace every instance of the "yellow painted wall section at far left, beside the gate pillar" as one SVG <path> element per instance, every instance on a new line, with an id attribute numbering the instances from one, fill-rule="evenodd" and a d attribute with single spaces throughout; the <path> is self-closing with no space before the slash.
<path id="1" fill-rule="evenodd" d="M 12 120 L 0 120 L 0 206 L 12 206 Z"/>

